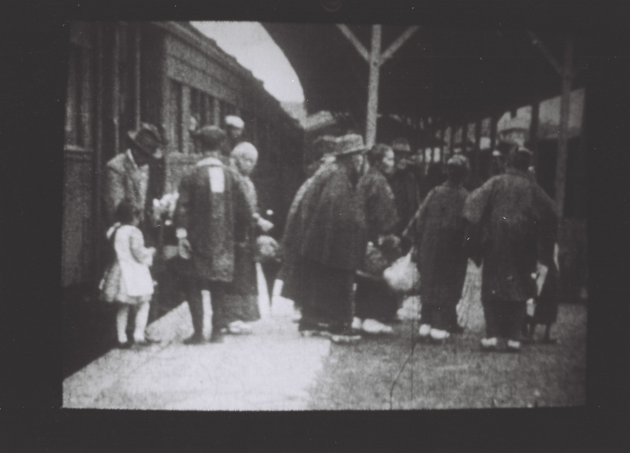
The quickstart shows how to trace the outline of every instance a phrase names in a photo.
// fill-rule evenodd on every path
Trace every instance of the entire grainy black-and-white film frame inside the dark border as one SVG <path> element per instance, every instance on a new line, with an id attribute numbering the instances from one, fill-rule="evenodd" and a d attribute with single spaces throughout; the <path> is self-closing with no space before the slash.
<path id="1" fill-rule="evenodd" d="M 69 27 L 63 408 L 585 404 L 595 35 Z"/>

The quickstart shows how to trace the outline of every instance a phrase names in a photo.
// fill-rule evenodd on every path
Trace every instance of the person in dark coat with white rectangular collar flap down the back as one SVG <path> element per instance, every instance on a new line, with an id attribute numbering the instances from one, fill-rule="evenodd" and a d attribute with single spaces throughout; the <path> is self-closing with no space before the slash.
<path id="1" fill-rule="evenodd" d="M 245 242 L 253 213 L 244 185 L 221 155 L 226 133 L 203 126 L 195 134 L 205 158 L 181 180 L 175 226 L 183 257 L 192 259 L 188 306 L 195 332 L 186 344 L 203 343 L 202 290 L 210 291 L 212 343 L 222 341 L 224 305 L 234 278 L 234 248 Z"/>

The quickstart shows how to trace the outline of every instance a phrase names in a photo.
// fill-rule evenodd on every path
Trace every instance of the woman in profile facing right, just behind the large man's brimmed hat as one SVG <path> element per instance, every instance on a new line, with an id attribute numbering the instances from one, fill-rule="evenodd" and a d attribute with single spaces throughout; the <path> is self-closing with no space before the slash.
<path id="1" fill-rule="evenodd" d="M 366 262 L 357 272 L 353 327 L 371 334 L 392 333 L 385 323 L 396 314 L 396 295 L 382 278 L 382 271 L 398 256 L 399 239 L 391 235 L 398 225 L 396 201 L 386 177 L 394 172 L 394 151 L 377 144 L 367 153 L 369 168 L 358 182 L 365 203 L 367 224 Z M 389 258 L 389 259 L 388 259 Z M 376 261 L 381 261 L 382 264 Z"/>

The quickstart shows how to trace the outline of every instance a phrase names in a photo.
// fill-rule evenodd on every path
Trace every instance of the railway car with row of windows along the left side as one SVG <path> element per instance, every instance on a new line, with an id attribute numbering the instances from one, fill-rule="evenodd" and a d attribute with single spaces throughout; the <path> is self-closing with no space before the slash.
<path id="1" fill-rule="evenodd" d="M 127 148 L 127 131 L 160 124 L 168 136 L 166 192 L 200 158 L 190 131 L 245 122 L 259 162 L 252 179 L 276 235 L 304 179 L 304 131 L 263 83 L 187 22 L 74 22 L 70 27 L 64 143 L 62 286 L 67 372 L 106 347 L 94 300 L 103 271 L 105 165 Z M 79 345 L 83 346 L 79 346 Z M 79 350 L 84 351 L 84 355 Z M 72 365 L 74 364 L 74 365 Z"/>

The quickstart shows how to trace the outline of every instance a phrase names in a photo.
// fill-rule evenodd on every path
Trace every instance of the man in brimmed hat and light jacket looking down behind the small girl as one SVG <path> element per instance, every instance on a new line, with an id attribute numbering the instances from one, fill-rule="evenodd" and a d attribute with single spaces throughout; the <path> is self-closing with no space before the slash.
<path id="1" fill-rule="evenodd" d="M 140 230 L 149 245 L 156 245 L 152 225 L 153 200 L 164 192 L 164 130 L 142 123 L 128 132 L 129 148 L 106 165 L 105 209 L 110 224 L 118 204 L 126 199 L 140 213 Z"/>

